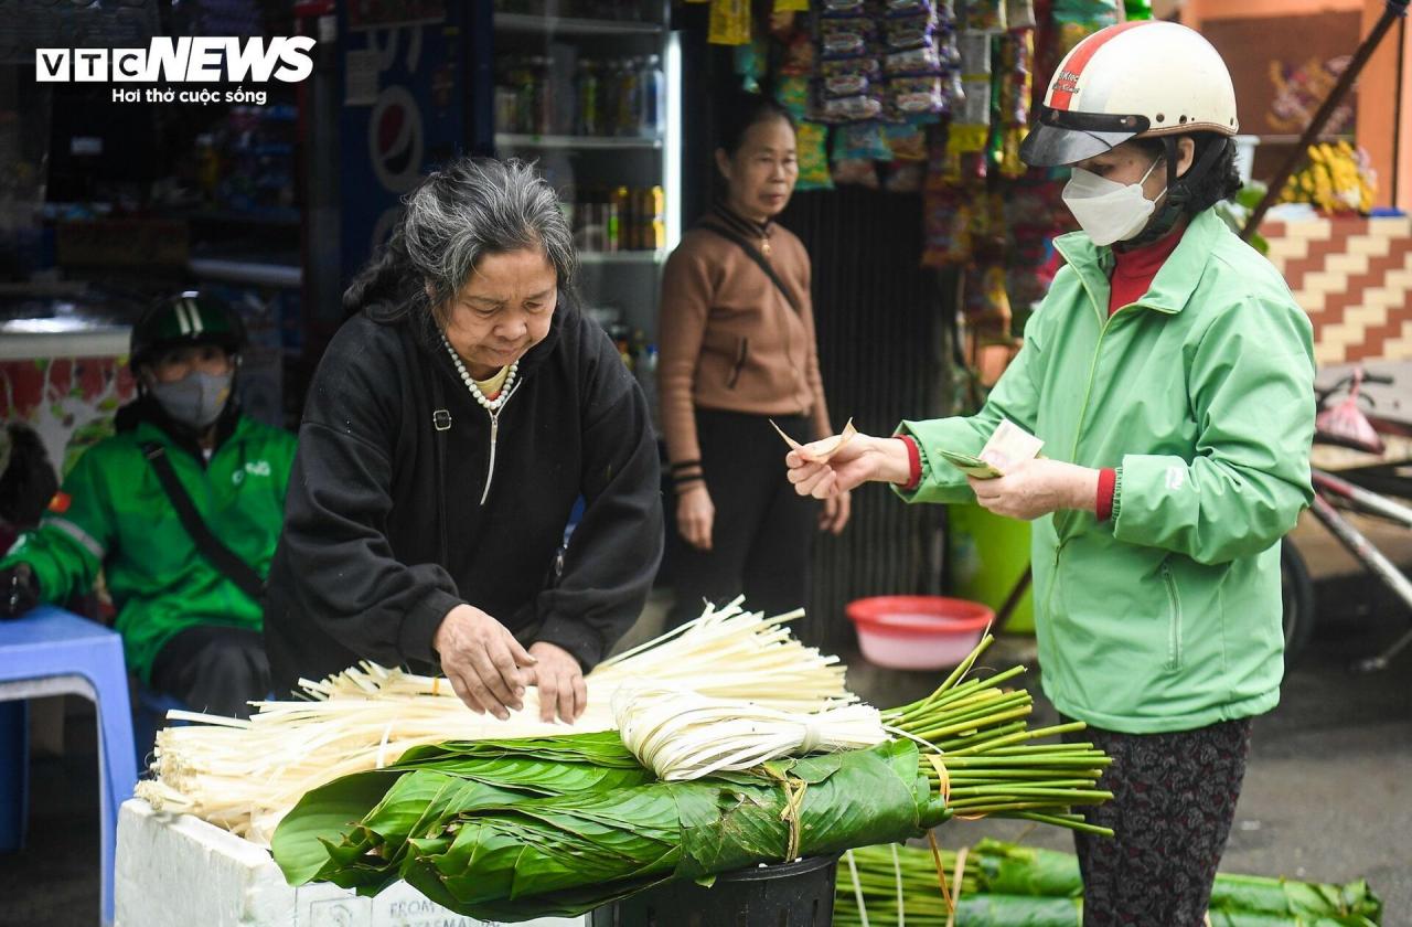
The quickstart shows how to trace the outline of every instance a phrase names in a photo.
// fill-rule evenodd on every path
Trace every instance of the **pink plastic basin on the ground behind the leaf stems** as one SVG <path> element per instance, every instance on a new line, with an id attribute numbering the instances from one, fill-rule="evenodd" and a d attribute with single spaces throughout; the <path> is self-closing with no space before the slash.
<path id="1" fill-rule="evenodd" d="M 940 595 L 880 595 L 849 602 L 868 663 L 895 670 L 953 667 L 976 647 L 995 613 Z"/>

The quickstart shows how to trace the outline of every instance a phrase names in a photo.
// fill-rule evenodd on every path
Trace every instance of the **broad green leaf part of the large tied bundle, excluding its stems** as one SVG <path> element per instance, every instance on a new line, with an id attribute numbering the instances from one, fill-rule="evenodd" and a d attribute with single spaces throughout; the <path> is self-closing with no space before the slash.
<path id="1" fill-rule="evenodd" d="M 909 740 L 681 783 L 652 781 L 616 740 L 409 752 L 308 793 L 275 831 L 275 862 L 292 885 L 376 894 L 404 879 L 457 913 L 524 920 L 666 879 L 901 841 L 949 817 Z"/>

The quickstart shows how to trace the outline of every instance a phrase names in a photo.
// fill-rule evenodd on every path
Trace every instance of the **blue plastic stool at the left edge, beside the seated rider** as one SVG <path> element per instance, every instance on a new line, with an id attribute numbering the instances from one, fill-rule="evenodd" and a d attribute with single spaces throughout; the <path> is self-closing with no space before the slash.
<path id="1" fill-rule="evenodd" d="M 97 709 L 103 923 L 112 924 L 117 810 L 137 783 L 123 639 L 102 625 L 51 606 L 0 622 L 0 702 L 42 695 L 82 695 Z M 17 753 L 27 759 L 27 752 Z M 24 814 L 28 801 L 24 789 L 18 796 L 0 794 L 0 801 L 16 800 Z"/>

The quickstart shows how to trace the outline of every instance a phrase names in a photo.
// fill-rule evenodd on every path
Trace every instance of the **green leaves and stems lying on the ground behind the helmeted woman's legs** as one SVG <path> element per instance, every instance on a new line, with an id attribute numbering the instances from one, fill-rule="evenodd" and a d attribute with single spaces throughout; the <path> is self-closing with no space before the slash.
<path id="1" fill-rule="evenodd" d="M 943 851 L 953 883 L 957 854 Z M 981 841 L 967 851 L 955 927 L 1080 927 L 1079 861 L 1034 846 Z M 860 906 L 861 899 L 861 906 Z M 836 927 L 943 927 L 950 909 L 936 859 L 916 846 L 864 846 L 839 863 Z M 1317 885 L 1262 876 L 1217 875 L 1213 927 L 1377 927 L 1382 902 L 1363 880 Z"/>

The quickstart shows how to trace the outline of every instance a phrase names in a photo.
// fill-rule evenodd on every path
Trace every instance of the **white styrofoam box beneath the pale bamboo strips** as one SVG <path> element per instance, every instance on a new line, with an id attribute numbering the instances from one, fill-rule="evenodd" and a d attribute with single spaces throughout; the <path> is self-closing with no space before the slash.
<path id="1" fill-rule="evenodd" d="M 186 814 L 123 803 L 117 821 L 113 927 L 481 927 L 405 882 L 377 897 L 336 885 L 284 880 L 270 851 Z M 587 917 L 542 917 L 528 927 L 586 927 Z"/>

